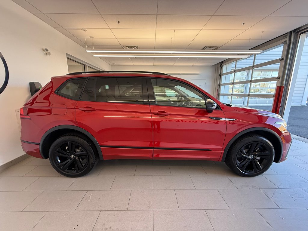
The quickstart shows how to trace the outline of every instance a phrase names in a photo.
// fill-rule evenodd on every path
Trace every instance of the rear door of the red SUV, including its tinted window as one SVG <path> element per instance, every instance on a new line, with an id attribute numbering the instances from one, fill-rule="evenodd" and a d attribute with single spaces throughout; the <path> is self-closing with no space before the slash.
<path id="1" fill-rule="evenodd" d="M 89 78 L 75 106 L 79 127 L 98 141 L 104 160 L 152 159 L 152 119 L 146 80 Z"/>

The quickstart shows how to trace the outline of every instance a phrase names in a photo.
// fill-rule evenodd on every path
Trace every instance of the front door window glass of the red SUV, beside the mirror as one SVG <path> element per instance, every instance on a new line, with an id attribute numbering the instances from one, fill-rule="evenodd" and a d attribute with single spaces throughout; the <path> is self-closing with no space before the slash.
<path id="1" fill-rule="evenodd" d="M 156 105 L 205 107 L 205 97 L 195 88 L 171 79 L 151 79 Z"/>

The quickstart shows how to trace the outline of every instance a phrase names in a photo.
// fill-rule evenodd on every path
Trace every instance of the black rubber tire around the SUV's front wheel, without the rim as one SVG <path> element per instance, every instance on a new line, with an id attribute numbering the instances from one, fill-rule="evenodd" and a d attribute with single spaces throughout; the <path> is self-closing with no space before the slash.
<path id="1" fill-rule="evenodd" d="M 237 152 L 240 150 L 241 147 L 243 147 L 245 144 L 249 144 L 251 142 L 260 142 L 262 144 L 265 145 L 265 147 L 268 149 L 268 151 L 271 153 L 270 156 L 270 160 L 267 164 L 266 167 L 264 167 L 260 172 L 257 173 L 247 173 L 247 172 L 242 172 L 238 167 L 237 167 L 237 161 L 236 161 L 236 156 L 237 156 Z M 275 151 L 274 151 L 274 147 L 273 145 L 264 137 L 261 136 L 255 136 L 253 138 L 249 137 L 246 138 L 244 140 L 242 140 L 241 142 L 239 142 L 238 144 L 236 144 L 233 148 L 233 153 L 231 155 L 231 163 L 234 166 L 234 170 L 237 172 L 237 174 L 241 175 L 241 176 L 258 176 L 261 175 L 262 173 L 266 172 L 270 166 L 272 165 L 273 161 L 274 161 L 274 156 L 275 156 Z"/>

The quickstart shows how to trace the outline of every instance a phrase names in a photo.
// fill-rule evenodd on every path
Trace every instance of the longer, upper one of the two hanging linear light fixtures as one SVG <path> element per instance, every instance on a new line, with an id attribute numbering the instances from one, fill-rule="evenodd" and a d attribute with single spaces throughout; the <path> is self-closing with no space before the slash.
<path id="1" fill-rule="evenodd" d="M 87 52 L 100 53 L 184 53 L 184 54 L 259 54 L 261 50 L 144 50 L 144 49 L 85 49 Z"/>

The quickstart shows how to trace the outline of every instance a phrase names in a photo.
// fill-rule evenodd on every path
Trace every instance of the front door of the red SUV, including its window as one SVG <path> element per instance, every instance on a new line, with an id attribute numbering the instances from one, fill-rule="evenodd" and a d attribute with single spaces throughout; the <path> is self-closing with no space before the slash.
<path id="1" fill-rule="evenodd" d="M 226 132 L 220 108 L 209 113 L 200 91 L 176 79 L 148 78 L 153 159 L 219 160 Z"/>

